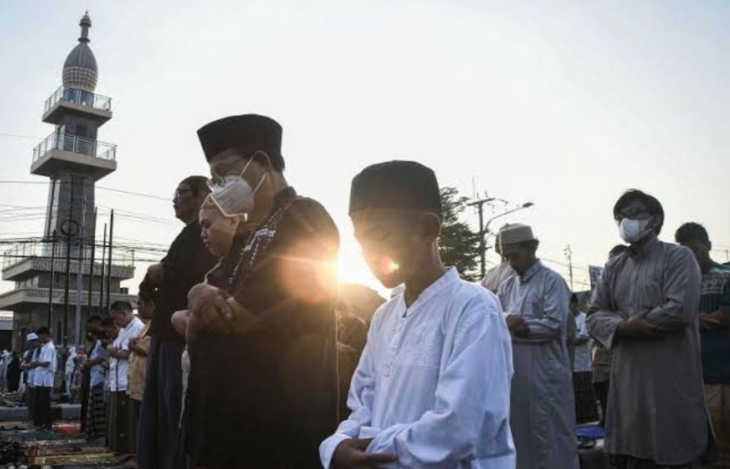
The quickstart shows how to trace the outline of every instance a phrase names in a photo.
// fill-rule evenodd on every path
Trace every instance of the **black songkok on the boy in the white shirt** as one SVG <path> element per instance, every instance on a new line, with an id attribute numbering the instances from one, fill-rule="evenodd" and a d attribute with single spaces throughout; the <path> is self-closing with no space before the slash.
<path id="1" fill-rule="evenodd" d="M 436 174 L 414 161 L 389 161 L 366 167 L 350 188 L 350 214 L 365 208 L 424 210 L 441 215 Z"/>

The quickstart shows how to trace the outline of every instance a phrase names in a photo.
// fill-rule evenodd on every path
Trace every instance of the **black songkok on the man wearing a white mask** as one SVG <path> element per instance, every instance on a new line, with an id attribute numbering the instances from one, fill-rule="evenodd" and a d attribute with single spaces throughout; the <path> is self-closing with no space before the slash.
<path id="1" fill-rule="evenodd" d="M 274 119 L 258 114 L 229 116 L 198 129 L 198 138 L 205 159 L 220 151 L 237 146 L 255 146 L 269 155 L 281 154 L 281 125 Z"/>

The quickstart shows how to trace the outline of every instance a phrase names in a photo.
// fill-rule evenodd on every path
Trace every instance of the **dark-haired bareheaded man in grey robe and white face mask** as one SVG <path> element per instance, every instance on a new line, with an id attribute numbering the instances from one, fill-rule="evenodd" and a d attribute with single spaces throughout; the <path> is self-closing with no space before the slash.
<path id="1" fill-rule="evenodd" d="M 692 251 L 663 243 L 664 209 L 636 189 L 613 208 L 630 246 L 610 259 L 588 331 L 613 353 L 605 449 L 620 469 L 701 467 L 711 432 L 699 347 Z"/>

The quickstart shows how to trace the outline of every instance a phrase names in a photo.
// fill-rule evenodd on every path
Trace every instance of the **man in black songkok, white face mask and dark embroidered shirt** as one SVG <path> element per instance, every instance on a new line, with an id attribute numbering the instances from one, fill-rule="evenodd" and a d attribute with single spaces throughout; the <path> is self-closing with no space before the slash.
<path id="1" fill-rule="evenodd" d="M 337 226 L 287 183 L 273 119 L 225 117 L 198 136 L 210 197 L 252 229 L 221 261 L 230 275 L 188 295 L 188 456 L 207 469 L 318 468 L 337 426 Z"/>

